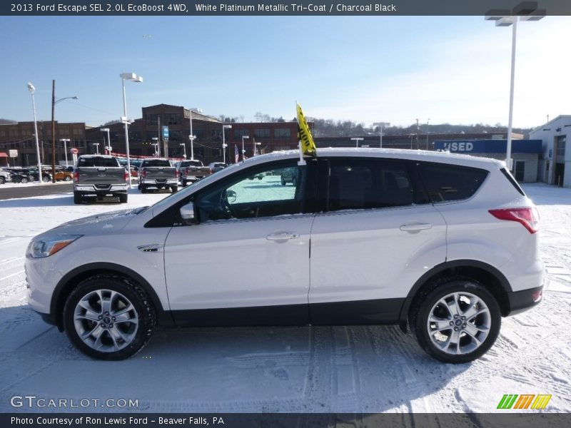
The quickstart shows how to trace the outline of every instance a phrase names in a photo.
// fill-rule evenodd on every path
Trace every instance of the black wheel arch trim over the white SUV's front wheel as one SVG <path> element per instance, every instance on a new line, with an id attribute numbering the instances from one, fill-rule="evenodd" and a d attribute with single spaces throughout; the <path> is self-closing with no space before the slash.
<path id="1" fill-rule="evenodd" d="M 56 285 L 51 297 L 50 313 L 54 317 L 54 320 L 56 320 L 56 326 L 59 331 L 64 331 L 63 312 L 67 297 L 81 281 L 95 275 L 118 275 L 121 277 L 128 277 L 137 282 L 137 284 L 141 286 L 151 299 L 151 302 L 155 307 L 158 323 L 161 325 L 173 324 L 171 312 L 163 309 L 161 300 L 158 298 L 158 295 L 155 290 L 153 290 L 151 284 L 149 284 L 148 281 L 137 272 L 129 269 L 128 267 L 116 265 L 115 263 L 89 263 L 87 265 L 76 267 L 74 270 L 66 273 L 66 275 L 64 275 Z"/>

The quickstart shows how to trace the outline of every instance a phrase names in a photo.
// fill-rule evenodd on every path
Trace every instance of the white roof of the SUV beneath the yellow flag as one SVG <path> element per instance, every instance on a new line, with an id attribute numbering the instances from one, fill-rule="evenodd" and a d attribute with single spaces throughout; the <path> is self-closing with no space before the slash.
<path id="1" fill-rule="evenodd" d="M 502 168 L 503 161 L 497 159 L 480 158 L 470 155 L 460 155 L 440 151 L 423 151 L 397 148 L 318 148 L 317 157 L 370 157 L 370 158 L 392 158 L 411 161 L 425 161 L 449 163 L 452 165 L 473 166 L 475 168 Z M 268 161 L 278 161 L 280 159 L 290 159 L 299 156 L 298 150 L 274 151 L 265 155 L 255 156 L 243 161 L 245 164 L 254 165 Z"/>

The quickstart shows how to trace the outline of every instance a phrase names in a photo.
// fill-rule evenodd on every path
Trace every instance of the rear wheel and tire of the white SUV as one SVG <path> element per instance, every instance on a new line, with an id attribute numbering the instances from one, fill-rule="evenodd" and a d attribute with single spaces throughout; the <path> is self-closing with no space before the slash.
<path id="1" fill-rule="evenodd" d="M 436 360 L 453 364 L 484 355 L 497 339 L 501 322 L 500 306 L 492 293 L 465 277 L 436 280 L 415 297 L 410 308 L 410 327 L 420 347 Z"/>

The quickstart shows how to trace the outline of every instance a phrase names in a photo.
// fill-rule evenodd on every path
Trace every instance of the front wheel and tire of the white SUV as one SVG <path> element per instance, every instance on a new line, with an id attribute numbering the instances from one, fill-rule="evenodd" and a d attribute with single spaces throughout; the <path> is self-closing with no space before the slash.
<path id="1" fill-rule="evenodd" d="M 98 360 L 132 357 L 146 345 L 155 325 L 155 310 L 143 289 L 116 275 L 96 275 L 80 282 L 64 305 L 69 340 Z"/>

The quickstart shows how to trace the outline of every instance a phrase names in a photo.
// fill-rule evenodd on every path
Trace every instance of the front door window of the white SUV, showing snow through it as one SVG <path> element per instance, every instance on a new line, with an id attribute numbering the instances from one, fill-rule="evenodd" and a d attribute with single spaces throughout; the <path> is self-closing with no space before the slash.
<path id="1" fill-rule="evenodd" d="M 267 165 L 243 171 L 224 185 L 213 185 L 196 199 L 200 220 L 302 213 L 306 168 L 296 162 Z"/>

